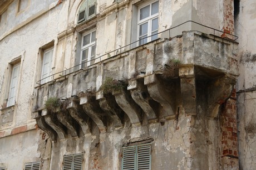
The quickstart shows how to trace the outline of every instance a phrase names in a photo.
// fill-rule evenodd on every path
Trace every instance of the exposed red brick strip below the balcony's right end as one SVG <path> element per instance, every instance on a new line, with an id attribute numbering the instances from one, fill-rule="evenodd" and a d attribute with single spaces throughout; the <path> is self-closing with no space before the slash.
<path id="1" fill-rule="evenodd" d="M 237 98 L 235 89 L 232 91 L 230 99 L 223 104 L 220 114 L 221 126 L 221 156 L 224 159 L 232 158 L 233 165 L 238 164 L 238 138 L 237 138 Z M 226 158 L 224 158 L 226 157 Z M 223 162 L 222 161 L 222 162 Z M 224 161 L 226 162 L 226 161 Z M 227 162 L 226 162 L 227 163 Z M 228 164 L 226 165 L 228 166 Z"/>

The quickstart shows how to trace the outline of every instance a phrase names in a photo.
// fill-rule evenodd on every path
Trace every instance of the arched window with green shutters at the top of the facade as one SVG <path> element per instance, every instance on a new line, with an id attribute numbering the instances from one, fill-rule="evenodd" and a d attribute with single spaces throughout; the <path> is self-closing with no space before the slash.
<path id="1" fill-rule="evenodd" d="M 96 15 L 96 0 L 86 0 L 78 11 L 77 23 L 88 20 Z"/>

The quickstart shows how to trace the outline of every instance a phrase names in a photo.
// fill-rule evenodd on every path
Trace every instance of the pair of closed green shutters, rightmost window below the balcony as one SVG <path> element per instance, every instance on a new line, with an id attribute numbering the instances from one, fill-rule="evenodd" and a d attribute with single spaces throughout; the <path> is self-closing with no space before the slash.
<path id="1" fill-rule="evenodd" d="M 151 169 L 151 145 L 123 147 L 122 170 L 127 169 Z"/>

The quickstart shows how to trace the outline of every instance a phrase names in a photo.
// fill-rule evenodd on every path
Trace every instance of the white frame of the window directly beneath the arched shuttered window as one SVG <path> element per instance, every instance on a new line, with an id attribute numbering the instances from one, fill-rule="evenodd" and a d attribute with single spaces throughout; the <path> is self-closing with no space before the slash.
<path id="1" fill-rule="evenodd" d="M 91 42 L 91 40 L 92 40 L 92 33 L 95 33 L 95 41 L 94 42 Z M 83 45 L 83 38 L 86 35 L 90 35 L 90 43 L 87 44 L 87 45 Z M 93 46 L 95 48 L 94 56 L 91 55 L 92 47 Z M 82 60 L 83 50 L 86 50 L 86 49 L 88 49 L 87 59 Z M 80 52 L 80 69 L 81 68 L 85 68 L 86 66 L 90 66 L 91 64 L 94 64 L 95 60 L 92 60 L 92 59 L 95 59 L 95 56 L 96 56 L 96 30 L 93 29 L 90 32 L 86 32 L 86 33 L 82 34 L 82 38 L 81 38 L 81 52 Z"/>

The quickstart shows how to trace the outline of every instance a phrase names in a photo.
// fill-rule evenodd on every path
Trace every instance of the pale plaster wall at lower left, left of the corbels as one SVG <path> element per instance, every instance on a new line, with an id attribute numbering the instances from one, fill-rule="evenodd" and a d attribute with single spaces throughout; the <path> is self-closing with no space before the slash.
<path id="1" fill-rule="evenodd" d="M 0 138 L 0 166 L 7 169 L 23 169 L 24 163 L 42 159 L 42 170 L 45 170 L 48 167 L 50 144 L 48 135 L 41 130 Z"/>

